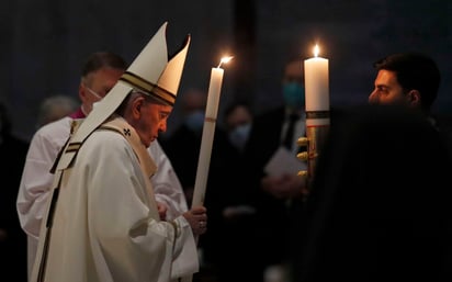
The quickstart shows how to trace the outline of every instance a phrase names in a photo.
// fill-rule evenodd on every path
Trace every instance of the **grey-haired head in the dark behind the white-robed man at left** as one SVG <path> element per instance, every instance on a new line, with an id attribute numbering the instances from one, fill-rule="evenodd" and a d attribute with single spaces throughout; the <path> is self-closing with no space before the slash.
<path id="1" fill-rule="evenodd" d="M 78 102 L 69 95 L 47 97 L 39 105 L 36 128 L 74 113 L 78 106 Z"/>

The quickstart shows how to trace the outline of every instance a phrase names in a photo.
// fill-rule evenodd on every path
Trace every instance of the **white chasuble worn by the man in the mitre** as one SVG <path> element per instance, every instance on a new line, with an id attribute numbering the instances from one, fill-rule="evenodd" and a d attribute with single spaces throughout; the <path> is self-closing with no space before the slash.
<path id="1" fill-rule="evenodd" d="M 58 191 L 58 196 L 41 234 L 49 219 L 53 227 L 39 238 L 31 281 L 167 282 L 199 270 L 197 261 L 191 269 L 173 269 L 182 248 L 195 253 L 193 234 L 183 216 L 159 219 L 149 182 L 156 167 L 143 145 L 131 145 L 136 140 L 134 128 L 116 117 L 56 172 L 53 194 Z"/>

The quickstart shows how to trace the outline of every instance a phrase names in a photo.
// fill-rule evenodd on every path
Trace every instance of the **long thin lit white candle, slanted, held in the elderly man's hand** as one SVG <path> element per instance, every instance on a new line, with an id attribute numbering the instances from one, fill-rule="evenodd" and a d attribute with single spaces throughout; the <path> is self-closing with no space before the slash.
<path id="1" fill-rule="evenodd" d="M 214 142 L 216 116 L 218 113 L 219 94 L 222 90 L 224 69 L 223 63 L 227 63 L 233 57 L 222 58 L 218 67 L 212 68 L 211 82 L 208 86 L 207 105 L 205 109 L 205 120 L 203 135 L 201 139 L 201 150 L 197 160 L 196 179 L 194 182 L 192 206 L 204 203 L 205 189 L 207 184 L 208 167 L 211 165 L 212 145 Z"/>

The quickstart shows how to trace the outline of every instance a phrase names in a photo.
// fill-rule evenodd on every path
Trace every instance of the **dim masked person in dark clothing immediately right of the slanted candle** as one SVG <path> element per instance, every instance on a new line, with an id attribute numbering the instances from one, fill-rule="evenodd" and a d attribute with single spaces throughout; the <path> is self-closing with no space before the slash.
<path id="1" fill-rule="evenodd" d="M 244 101 L 233 101 L 224 111 L 224 128 L 233 148 L 229 153 L 227 173 L 234 176 L 234 181 L 224 191 L 216 192 L 217 198 L 222 199 L 217 202 L 223 204 L 218 208 L 222 221 L 221 234 L 216 237 L 216 250 L 221 253 L 217 263 L 219 282 L 253 282 L 260 274 L 259 266 L 250 263 L 260 256 L 262 249 L 257 248 L 255 244 L 258 238 L 256 210 L 252 194 L 245 181 L 248 169 L 244 162 L 252 119 L 251 105 Z M 212 213 L 211 210 L 210 212 Z M 211 229 L 207 233 L 210 232 Z"/>

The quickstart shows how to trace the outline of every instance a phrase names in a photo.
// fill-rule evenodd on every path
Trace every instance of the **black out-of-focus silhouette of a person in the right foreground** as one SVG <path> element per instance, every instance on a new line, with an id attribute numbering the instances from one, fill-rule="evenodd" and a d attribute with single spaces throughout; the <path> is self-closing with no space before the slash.
<path id="1" fill-rule="evenodd" d="M 291 281 L 451 281 L 451 160 L 413 108 L 342 112 L 292 230 Z"/>

